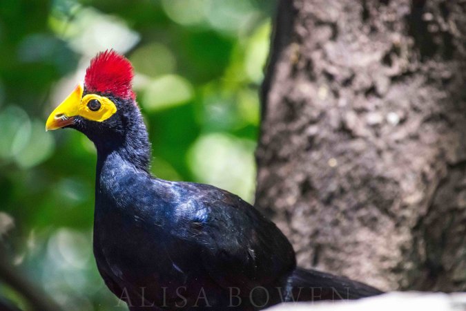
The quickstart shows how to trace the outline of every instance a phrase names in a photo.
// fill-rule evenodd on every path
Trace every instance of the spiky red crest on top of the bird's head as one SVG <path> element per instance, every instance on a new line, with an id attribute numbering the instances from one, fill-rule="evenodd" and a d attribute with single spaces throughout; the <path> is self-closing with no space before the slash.
<path id="1" fill-rule="evenodd" d="M 84 85 L 89 92 L 114 95 L 124 99 L 135 99 L 131 86 L 133 66 L 124 56 L 114 50 L 97 54 L 86 69 Z"/>

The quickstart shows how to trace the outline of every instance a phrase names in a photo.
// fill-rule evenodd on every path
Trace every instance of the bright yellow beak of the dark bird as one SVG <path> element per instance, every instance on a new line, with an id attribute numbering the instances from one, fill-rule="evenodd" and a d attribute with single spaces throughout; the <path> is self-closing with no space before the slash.
<path id="1" fill-rule="evenodd" d="M 74 117 L 79 113 L 79 104 L 83 96 L 84 86 L 82 83 L 76 86 L 66 100 L 61 102 L 52 113 L 50 113 L 46 122 L 46 131 L 60 129 L 61 127 L 73 124 Z"/>

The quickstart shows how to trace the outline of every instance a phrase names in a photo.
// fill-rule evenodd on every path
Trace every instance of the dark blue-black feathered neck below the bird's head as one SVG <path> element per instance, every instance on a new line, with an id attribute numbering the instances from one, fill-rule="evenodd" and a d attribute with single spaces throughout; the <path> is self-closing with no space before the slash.
<path id="1" fill-rule="evenodd" d="M 142 115 L 137 111 L 126 120 L 125 131 L 104 142 L 95 142 L 97 173 L 104 167 L 113 166 L 119 162 L 148 173 L 151 162 L 151 143 L 148 140 Z"/>

